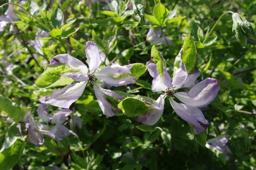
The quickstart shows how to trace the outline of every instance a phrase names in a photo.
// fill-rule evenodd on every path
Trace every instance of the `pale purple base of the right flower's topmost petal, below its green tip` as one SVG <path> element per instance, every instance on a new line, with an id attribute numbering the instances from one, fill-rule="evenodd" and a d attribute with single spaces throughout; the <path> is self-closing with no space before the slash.
<path id="1" fill-rule="evenodd" d="M 176 69 L 174 72 L 172 84 L 176 87 L 175 89 L 191 87 L 200 73 L 201 72 L 199 70 L 196 70 L 194 73 L 188 74 L 185 64 L 181 61 L 180 68 Z"/>

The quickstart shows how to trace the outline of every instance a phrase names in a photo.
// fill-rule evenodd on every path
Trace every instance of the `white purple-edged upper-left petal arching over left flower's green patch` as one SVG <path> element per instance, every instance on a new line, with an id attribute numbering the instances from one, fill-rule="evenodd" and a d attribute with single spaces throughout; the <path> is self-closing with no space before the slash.
<path id="1" fill-rule="evenodd" d="M 80 69 L 82 73 L 87 74 L 88 69 L 85 64 L 83 64 L 82 61 L 76 59 L 75 57 L 72 57 L 69 54 L 59 54 L 50 61 L 49 65 L 54 65 L 54 64 L 67 64 L 71 68 L 76 68 Z"/>

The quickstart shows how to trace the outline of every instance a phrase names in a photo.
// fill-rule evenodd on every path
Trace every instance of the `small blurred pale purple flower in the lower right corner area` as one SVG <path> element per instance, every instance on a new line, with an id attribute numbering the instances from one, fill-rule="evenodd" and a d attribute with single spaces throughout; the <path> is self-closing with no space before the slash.
<path id="1" fill-rule="evenodd" d="M 227 154 L 232 154 L 229 147 L 226 145 L 229 141 L 229 135 L 217 136 L 206 142 L 206 147 L 212 151 L 226 152 Z"/>

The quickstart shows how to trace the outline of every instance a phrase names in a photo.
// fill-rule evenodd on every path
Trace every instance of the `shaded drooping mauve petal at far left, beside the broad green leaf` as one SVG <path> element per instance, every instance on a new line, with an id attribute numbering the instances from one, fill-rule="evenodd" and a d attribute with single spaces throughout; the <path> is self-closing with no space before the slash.
<path id="1" fill-rule="evenodd" d="M 34 145 L 42 145 L 44 144 L 44 137 L 38 133 L 37 129 L 38 126 L 34 121 L 34 118 L 29 113 L 27 116 L 27 123 L 26 123 L 26 129 L 28 133 L 28 141 L 30 143 L 33 143 Z"/>

